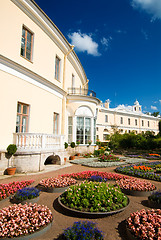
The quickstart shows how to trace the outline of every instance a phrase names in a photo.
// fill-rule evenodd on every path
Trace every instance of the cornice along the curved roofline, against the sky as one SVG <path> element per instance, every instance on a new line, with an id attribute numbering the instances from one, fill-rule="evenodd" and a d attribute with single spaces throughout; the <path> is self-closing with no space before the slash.
<path id="1" fill-rule="evenodd" d="M 17 7 L 19 7 L 30 19 L 32 19 L 50 37 L 50 39 L 58 46 L 58 48 L 61 49 L 64 54 L 69 52 L 71 45 L 65 36 L 34 0 L 11 1 Z M 68 59 L 77 71 L 82 84 L 85 84 L 87 82 L 87 76 L 76 53 L 73 51 L 68 56 Z"/>

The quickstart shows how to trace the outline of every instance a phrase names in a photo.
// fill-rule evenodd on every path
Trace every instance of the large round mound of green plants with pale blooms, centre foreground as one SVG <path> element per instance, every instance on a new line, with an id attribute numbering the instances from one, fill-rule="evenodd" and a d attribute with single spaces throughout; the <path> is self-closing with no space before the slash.
<path id="1" fill-rule="evenodd" d="M 60 198 L 68 208 L 81 212 L 111 212 L 128 204 L 120 188 L 103 182 L 83 182 L 68 188 Z"/>

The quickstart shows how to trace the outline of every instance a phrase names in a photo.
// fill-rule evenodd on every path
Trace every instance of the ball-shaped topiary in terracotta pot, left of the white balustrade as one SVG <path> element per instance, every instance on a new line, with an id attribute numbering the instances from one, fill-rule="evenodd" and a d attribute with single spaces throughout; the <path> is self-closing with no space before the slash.
<path id="1" fill-rule="evenodd" d="M 16 171 L 16 167 L 13 166 L 13 154 L 17 151 L 17 146 L 15 144 L 9 144 L 7 147 L 7 158 L 8 158 L 8 168 L 7 173 L 8 175 L 14 175 Z M 10 161 L 9 161 L 10 159 Z M 10 163 L 9 163 L 10 162 Z"/>

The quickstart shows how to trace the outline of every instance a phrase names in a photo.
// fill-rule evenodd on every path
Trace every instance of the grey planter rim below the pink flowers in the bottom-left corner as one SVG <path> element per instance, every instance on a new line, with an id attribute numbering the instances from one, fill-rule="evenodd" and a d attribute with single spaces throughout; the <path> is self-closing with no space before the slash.
<path id="1" fill-rule="evenodd" d="M 49 223 L 47 226 L 42 227 L 37 232 L 34 232 L 32 234 L 27 234 L 27 235 L 24 235 L 24 236 L 21 236 L 21 237 L 14 237 L 12 239 L 28 240 L 28 239 L 31 239 L 31 238 L 38 238 L 39 236 L 43 235 L 45 232 L 49 231 L 51 226 L 52 226 L 52 222 Z M 11 240 L 11 238 L 3 238 L 3 240 Z"/>

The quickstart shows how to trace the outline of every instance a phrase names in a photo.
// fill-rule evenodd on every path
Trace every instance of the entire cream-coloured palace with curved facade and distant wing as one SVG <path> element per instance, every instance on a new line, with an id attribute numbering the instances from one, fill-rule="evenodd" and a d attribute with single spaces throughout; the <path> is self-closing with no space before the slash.
<path id="1" fill-rule="evenodd" d="M 101 105 L 74 46 L 33 0 L 2 0 L 0 26 L 0 174 L 9 144 L 18 148 L 17 172 L 36 172 L 52 154 L 64 164 L 65 142 L 79 141 L 83 152 L 114 127 L 158 132 L 158 118 L 138 102 L 129 110 Z"/>

